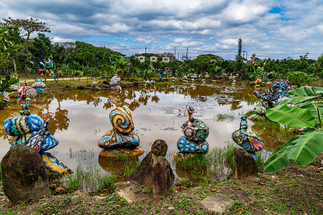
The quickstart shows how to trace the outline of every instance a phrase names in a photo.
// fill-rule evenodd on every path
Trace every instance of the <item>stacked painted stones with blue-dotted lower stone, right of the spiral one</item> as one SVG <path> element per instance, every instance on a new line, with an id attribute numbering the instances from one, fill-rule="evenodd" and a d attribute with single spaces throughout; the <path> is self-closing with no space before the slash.
<path id="1" fill-rule="evenodd" d="M 180 152 L 174 154 L 175 160 L 192 157 L 194 154 L 206 154 L 209 150 L 209 144 L 205 140 L 209 136 L 208 126 L 200 119 L 194 119 L 193 107 L 189 107 L 187 112 L 189 120 L 181 126 L 184 136 L 177 141 Z"/>

